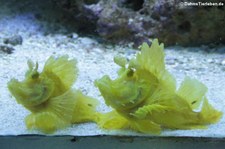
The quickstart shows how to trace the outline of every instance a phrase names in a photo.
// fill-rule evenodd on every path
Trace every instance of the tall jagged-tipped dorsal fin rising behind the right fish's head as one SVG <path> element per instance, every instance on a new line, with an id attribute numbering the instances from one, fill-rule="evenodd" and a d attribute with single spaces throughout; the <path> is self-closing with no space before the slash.
<path id="1" fill-rule="evenodd" d="M 136 64 L 157 77 L 160 83 L 166 86 L 167 89 L 175 90 L 176 81 L 165 69 L 164 57 L 164 45 L 159 44 L 158 40 L 154 39 L 151 47 L 147 43 L 142 44 L 141 53 L 136 58 Z"/>

